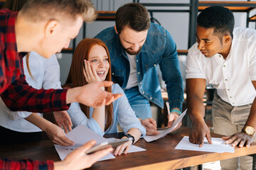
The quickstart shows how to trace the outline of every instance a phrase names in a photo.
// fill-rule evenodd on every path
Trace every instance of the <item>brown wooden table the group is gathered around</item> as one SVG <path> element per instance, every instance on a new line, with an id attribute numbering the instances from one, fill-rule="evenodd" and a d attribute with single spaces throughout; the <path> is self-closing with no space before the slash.
<path id="1" fill-rule="evenodd" d="M 135 145 L 146 149 L 146 152 L 135 152 L 118 156 L 116 159 L 97 162 L 90 169 L 181 169 L 188 166 L 214 162 L 233 157 L 256 153 L 256 143 L 251 147 L 235 148 L 235 153 L 211 153 L 174 149 L 189 129 L 181 127 L 177 132 L 154 142 L 139 140 Z M 118 134 L 107 135 L 118 137 Z M 119 135 L 119 137 L 121 137 Z M 212 137 L 220 135 L 212 134 Z M 53 143 L 49 140 L 31 142 L 22 145 L 0 145 L 1 158 L 31 158 L 60 160 Z"/>

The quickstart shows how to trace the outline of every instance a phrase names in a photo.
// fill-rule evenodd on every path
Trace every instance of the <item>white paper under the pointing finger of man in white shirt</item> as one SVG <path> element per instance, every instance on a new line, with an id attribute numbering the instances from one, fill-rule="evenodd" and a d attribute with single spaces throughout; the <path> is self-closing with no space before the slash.
<path id="1" fill-rule="evenodd" d="M 182 150 L 194 150 L 194 151 L 202 151 L 202 152 L 235 152 L 235 148 L 231 147 L 230 145 L 225 145 L 225 141 L 218 137 L 211 137 L 211 140 L 213 144 L 209 144 L 208 141 L 205 140 L 203 142 L 203 147 L 199 147 L 197 144 L 193 144 L 189 142 L 188 137 L 185 136 L 181 140 L 181 142 L 178 143 L 178 145 L 175 147 L 175 149 L 182 149 Z"/>

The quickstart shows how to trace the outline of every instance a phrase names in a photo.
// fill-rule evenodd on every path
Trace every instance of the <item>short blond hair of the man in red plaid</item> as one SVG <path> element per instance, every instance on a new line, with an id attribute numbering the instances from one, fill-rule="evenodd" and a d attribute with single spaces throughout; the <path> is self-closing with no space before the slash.
<path id="1" fill-rule="evenodd" d="M 82 16 L 85 22 L 95 21 L 97 13 L 90 0 L 28 0 L 20 11 L 33 22 L 51 21 L 60 18 L 74 21 Z"/>

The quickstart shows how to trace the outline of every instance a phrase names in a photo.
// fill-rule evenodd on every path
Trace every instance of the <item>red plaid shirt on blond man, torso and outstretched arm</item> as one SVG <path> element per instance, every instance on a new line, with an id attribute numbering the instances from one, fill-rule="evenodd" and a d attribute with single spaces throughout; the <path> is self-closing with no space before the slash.
<path id="1" fill-rule="evenodd" d="M 68 89 L 33 89 L 23 74 L 22 55 L 18 55 L 15 35 L 17 12 L 0 10 L 0 94 L 11 111 L 47 113 L 68 110 Z M 3 92 L 4 91 L 4 92 Z"/>

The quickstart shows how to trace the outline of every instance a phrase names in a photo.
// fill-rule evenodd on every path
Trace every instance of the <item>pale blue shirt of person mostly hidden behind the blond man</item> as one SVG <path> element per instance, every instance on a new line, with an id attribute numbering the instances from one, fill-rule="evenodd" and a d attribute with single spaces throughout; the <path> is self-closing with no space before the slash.
<path id="1" fill-rule="evenodd" d="M 26 81 L 35 89 L 61 89 L 60 66 L 55 55 L 46 59 L 36 52 L 31 52 L 29 56 L 29 67 L 33 78 L 28 73 L 26 67 L 26 57 L 23 57 L 24 74 Z M 40 114 L 40 113 L 38 113 Z M 40 128 L 23 119 L 31 115 L 31 112 L 12 112 L 6 107 L 0 98 L 0 125 L 10 130 L 18 132 L 39 132 Z M 42 114 L 40 114 L 42 116 Z"/>

